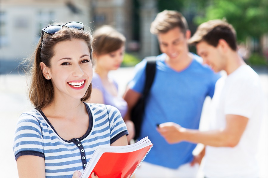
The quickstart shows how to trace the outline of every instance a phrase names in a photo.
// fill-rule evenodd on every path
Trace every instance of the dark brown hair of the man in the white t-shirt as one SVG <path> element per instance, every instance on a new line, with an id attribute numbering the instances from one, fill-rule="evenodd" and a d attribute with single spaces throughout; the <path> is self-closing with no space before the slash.
<path id="1" fill-rule="evenodd" d="M 205 41 L 209 45 L 216 47 L 219 39 L 224 39 L 230 48 L 234 51 L 237 49 L 236 31 L 233 26 L 225 20 L 209 20 L 198 26 L 197 31 L 188 40 L 189 45 L 196 45 Z"/>

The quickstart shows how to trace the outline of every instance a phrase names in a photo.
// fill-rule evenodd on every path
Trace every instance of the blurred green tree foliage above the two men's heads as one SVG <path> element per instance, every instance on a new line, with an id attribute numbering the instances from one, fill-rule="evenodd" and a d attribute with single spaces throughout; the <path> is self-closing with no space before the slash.
<path id="1" fill-rule="evenodd" d="M 239 41 L 247 36 L 260 38 L 268 32 L 267 0 L 158 0 L 158 10 L 177 10 L 186 16 L 191 13 L 191 20 L 196 25 L 212 20 L 225 18 L 237 32 Z"/>

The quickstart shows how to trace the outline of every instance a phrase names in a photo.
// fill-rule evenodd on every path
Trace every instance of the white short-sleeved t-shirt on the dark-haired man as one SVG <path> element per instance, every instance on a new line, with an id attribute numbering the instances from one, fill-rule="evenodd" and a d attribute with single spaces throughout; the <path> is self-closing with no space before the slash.
<path id="1" fill-rule="evenodd" d="M 242 65 L 227 77 L 220 78 L 211 101 L 210 129 L 225 128 L 225 115 L 249 118 L 236 147 L 206 147 L 204 173 L 208 178 L 256 178 L 256 152 L 261 120 L 263 95 L 258 74 Z"/>

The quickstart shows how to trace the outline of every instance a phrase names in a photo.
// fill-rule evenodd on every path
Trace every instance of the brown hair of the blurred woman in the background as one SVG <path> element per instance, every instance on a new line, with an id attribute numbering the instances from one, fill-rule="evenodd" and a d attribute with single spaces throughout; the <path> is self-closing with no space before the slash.
<path id="1" fill-rule="evenodd" d="M 125 45 L 126 38 L 113 27 L 105 25 L 94 32 L 94 55 L 111 53 Z"/>

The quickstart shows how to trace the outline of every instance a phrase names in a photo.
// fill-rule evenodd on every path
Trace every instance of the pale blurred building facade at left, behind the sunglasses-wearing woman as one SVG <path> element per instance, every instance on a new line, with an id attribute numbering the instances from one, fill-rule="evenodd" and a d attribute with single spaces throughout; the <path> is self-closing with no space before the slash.
<path id="1" fill-rule="evenodd" d="M 0 59 L 26 58 L 52 22 L 81 21 L 90 17 L 88 0 L 1 0 Z"/>

